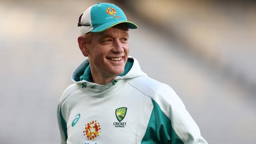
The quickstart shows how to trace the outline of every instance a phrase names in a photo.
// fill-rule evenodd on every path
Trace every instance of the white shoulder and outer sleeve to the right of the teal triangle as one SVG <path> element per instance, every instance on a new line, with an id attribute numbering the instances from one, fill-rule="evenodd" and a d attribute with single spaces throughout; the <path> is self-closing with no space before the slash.
<path id="1" fill-rule="evenodd" d="M 158 103 L 161 111 L 171 120 L 174 131 L 184 144 L 207 144 L 197 124 L 171 87 L 148 77 L 129 79 L 127 82 Z"/>

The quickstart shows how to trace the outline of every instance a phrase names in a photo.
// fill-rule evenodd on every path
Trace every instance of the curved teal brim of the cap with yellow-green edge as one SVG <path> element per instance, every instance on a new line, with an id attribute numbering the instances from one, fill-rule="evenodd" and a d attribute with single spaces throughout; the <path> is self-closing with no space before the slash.
<path id="1" fill-rule="evenodd" d="M 134 24 L 133 22 L 119 20 L 119 21 L 112 21 L 112 22 L 107 22 L 105 24 L 102 24 L 102 25 L 100 25 L 100 26 L 98 26 L 96 28 L 93 28 L 93 30 L 91 30 L 91 32 L 99 33 L 99 32 L 102 32 L 104 30 L 108 30 L 112 26 L 115 26 L 115 25 L 121 24 L 121 23 L 126 23 L 128 28 L 130 28 L 130 29 L 138 28 L 138 26 L 136 24 Z"/>

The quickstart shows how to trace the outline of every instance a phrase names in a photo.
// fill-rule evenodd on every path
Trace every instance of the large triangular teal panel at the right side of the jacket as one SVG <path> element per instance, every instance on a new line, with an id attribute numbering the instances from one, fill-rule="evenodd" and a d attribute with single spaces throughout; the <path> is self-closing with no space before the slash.
<path id="1" fill-rule="evenodd" d="M 173 130 L 171 120 L 152 100 L 153 110 L 141 144 L 184 144 Z"/>

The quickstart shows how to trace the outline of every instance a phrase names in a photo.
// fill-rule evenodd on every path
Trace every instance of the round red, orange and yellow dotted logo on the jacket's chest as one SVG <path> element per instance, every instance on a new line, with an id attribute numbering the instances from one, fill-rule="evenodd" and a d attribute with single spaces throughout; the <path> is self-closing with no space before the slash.
<path id="1" fill-rule="evenodd" d="M 87 140 L 95 140 L 100 135 L 100 123 L 96 120 L 91 120 L 85 125 L 83 135 L 86 136 Z"/>

